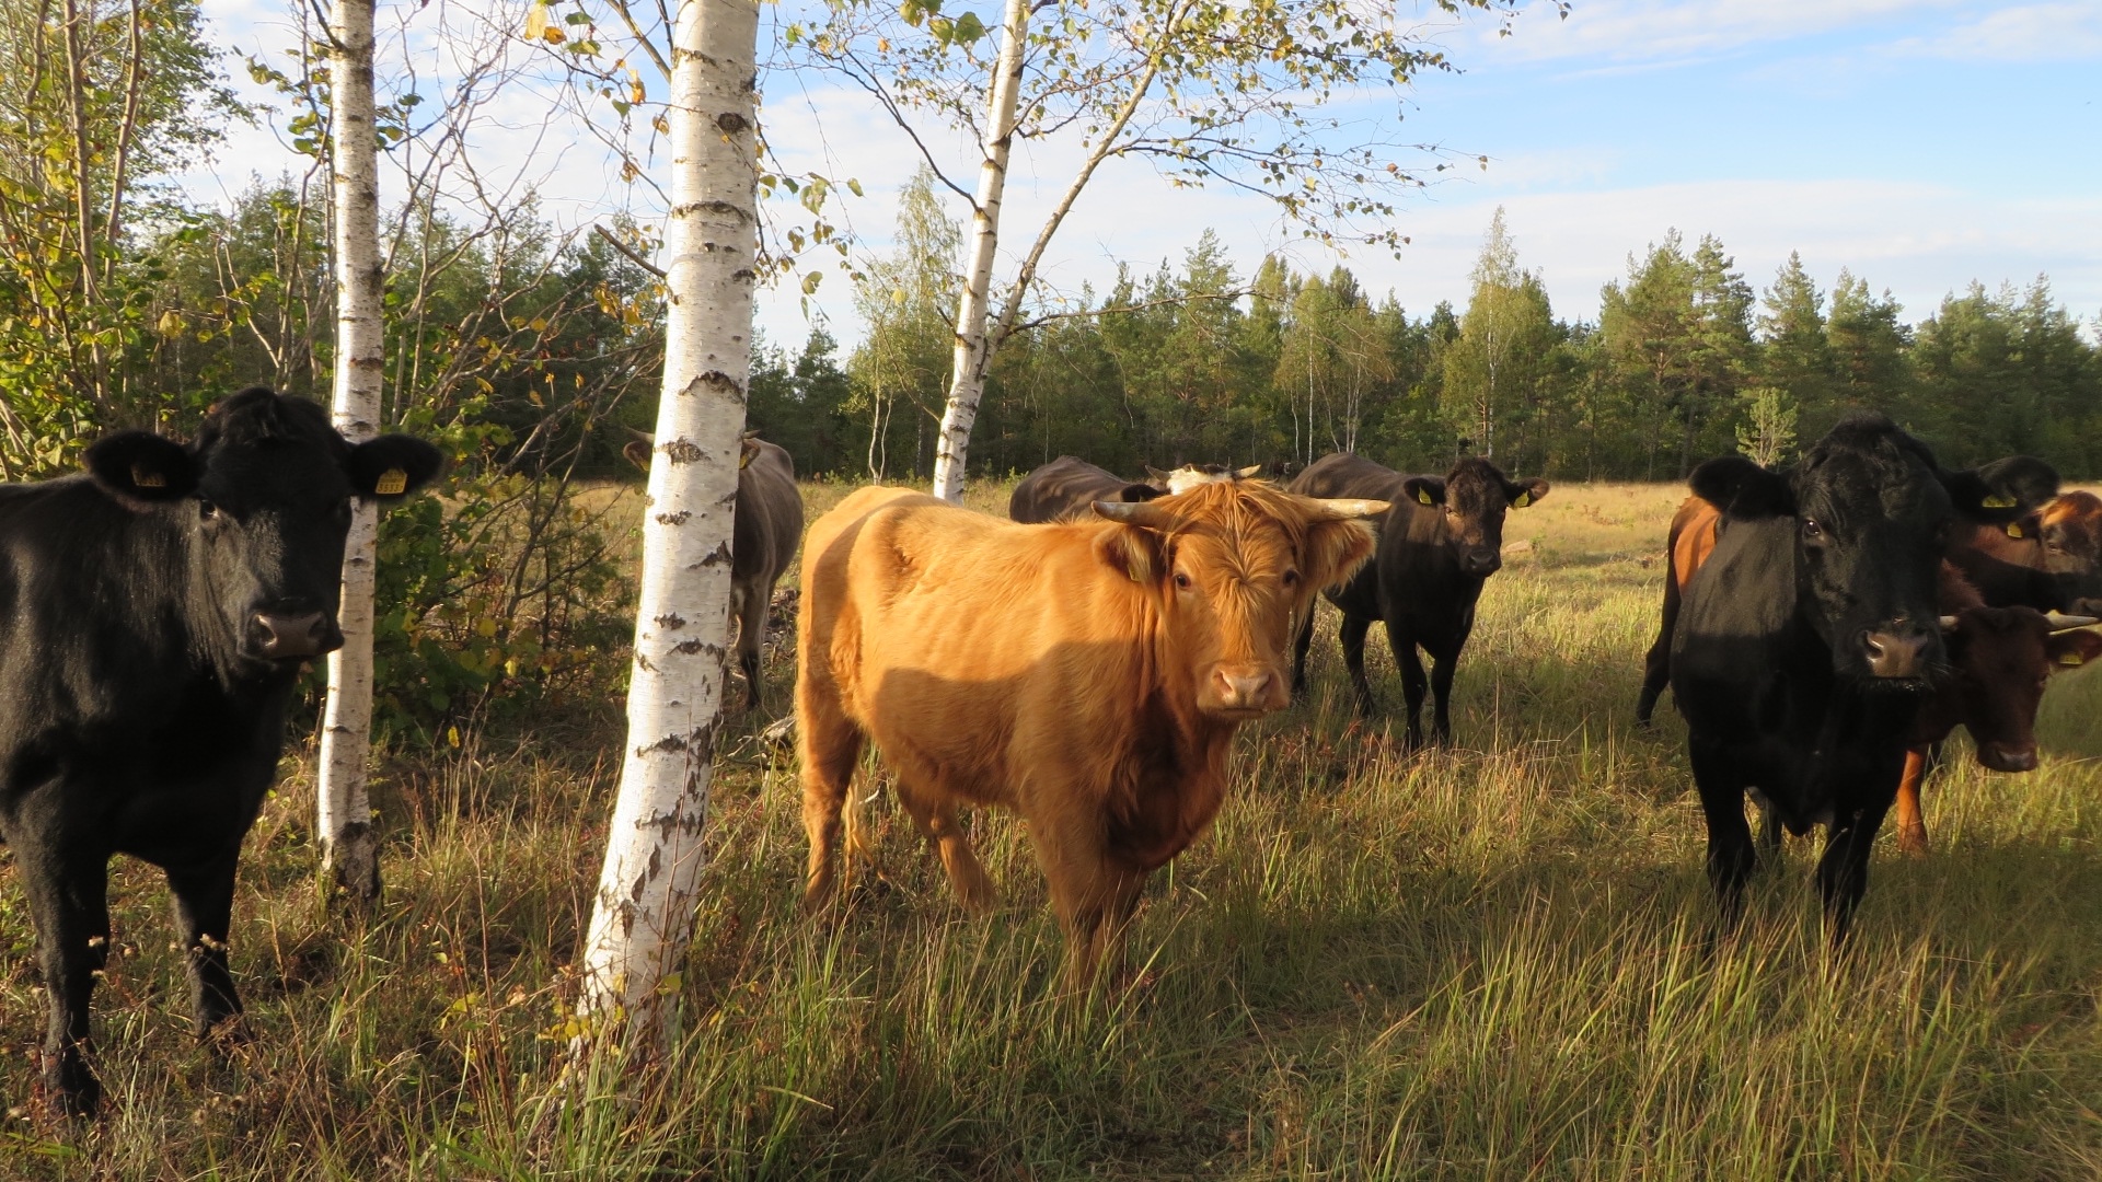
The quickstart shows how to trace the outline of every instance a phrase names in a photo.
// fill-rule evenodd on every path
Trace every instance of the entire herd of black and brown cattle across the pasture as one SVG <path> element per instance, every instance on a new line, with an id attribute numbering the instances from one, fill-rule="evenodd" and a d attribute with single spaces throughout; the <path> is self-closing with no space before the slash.
<path id="1" fill-rule="evenodd" d="M 652 442 L 628 454 L 652 458 Z M 86 1115 L 88 995 L 109 946 L 107 862 L 162 867 L 198 1035 L 240 1014 L 227 936 L 240 843 L 284 747 L 298 667 L 341 644 L 351 498 L 431 482 L 404 435 L 349 444 L 267 389 L 212 408 L 189 444 L 114 433 L 86 473 L 0 484 L 0 837 L 38 934 L 50 1005 L 44 1081 Z M 1408 747 L 1450 742 L 1450 690 L 1503 522 L 1547 496 L 1482 458 L 1444 477 L 1333 454 L 1280 488 L 1259 469 L 1127 482 L 1072 456 L 1030 473 L 1011 522 L 862 488 L 809 526 L 782 448 L 746 437 L 734 614 L 759 702 L 767 604 L 801 545 L 797 745 L 805 909 L 839 896 L 849 780 L 881 753 L 900 803 L 971 909 L 994 890 L 963 806 L 1028 835 L 1087 978 L 1146 877 L 1213 820 L 1234 732 L 1305 686 L 1314 599 L 1362 711 L 1364 641 L 1385 623 Z M 1827 829 L 1833 938 L 1896 803 L 1919 848 L 1919 780 L 1957 726 L 1978 761 L 2035 768 L 2054 669 L 2102 656 L 2102 501 L 2041 461 L 1951 471 L 1902 429 L 1854 416 L 1785 471 L 1701 465 L 1671 522 L 1663 623 L 1637 715 L 1669 686 L 1734 921 L 1757 845 Z M 1431 658 L 1425 677 L 1417 656 Z M 1291 654 L 1291 658 L 1286 658 Z"/>

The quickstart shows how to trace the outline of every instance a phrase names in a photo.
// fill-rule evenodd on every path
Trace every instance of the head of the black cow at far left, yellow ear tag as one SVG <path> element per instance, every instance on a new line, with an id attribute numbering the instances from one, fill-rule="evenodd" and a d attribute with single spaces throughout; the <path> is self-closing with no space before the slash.
<path id="1" fill-rule="evenodd" d="M 326 410 L 267 389 L 219 402 L 187 446 L 118 431 L 86 452 L 95 484 L 185 536 L 191 627 L 246 665 L 343 644 L 336 604 L 351 496 L 397 501 L 439 463 L 437 448 L 408 435 L 351 446 Z"/>

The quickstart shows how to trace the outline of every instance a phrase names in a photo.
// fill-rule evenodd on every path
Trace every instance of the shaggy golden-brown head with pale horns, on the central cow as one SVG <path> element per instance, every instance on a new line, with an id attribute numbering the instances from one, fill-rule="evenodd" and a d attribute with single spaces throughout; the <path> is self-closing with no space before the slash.
<path id="1" fill-rule="evenodd" d="M 1286 641 L 1314 593 L 1373 555 L 1362 522 L 1383 501 L 1316 501 L 1261 482 L 1200 484 L 1141 505 L 1097 501 L 1118 522 L 1097 553 L 1160 602 L 1162 677 L 1200 713 L 1240 721 L 1291 705 Z"/>

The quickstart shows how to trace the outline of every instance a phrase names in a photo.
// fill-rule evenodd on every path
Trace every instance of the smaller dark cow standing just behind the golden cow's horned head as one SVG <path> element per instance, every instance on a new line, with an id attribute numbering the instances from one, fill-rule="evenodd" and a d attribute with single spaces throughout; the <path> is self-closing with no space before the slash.
<path id="1" fill-rule="evenodd" d="M 1429 688 L 1436 694 L 1431 734 L 1452 742 L 1452 673 L 1474 633 L 1474 604 L 1482 583 L 1503 568 L 1503 515 L 1547 496 L 1547 482 L 1507 480 L 1484 458 L 1465 458 L 1444 477 L 1402 475 L 1394 469 L 1337 452 L 1314 461 L 1293 484 L 1305 496 L 1360 496 L 1389 501 L 1379 524 L 1379 555 L 1364 564 L 1328 602 L 1343 610 L 1343 665 L 1358 688 L 1358 709 L 1373 713 L 1373 684 L 1364 677 L 1364 633 L 1385 620 L 1394 665 L 1408 698 L 1408 747 L 1423 745 L 1423 663 L 1431 654 Z M 1293 654 L 1293 692 L 1305 692 L 1307 646 L 1314 612 L 1299 620 Z"/>

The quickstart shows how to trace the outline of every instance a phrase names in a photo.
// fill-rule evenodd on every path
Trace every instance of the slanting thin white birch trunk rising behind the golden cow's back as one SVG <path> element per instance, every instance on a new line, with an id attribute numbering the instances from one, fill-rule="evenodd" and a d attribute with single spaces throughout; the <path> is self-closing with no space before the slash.
<path id="1" fill-rule="evenodd" d="M 986 160 L 977 168 L 977 200 L 971 210 L 971 254 L 956 301 L 956 351 L 950 360 L 948 406 L 933 456 L 933 494 L 963 501 L 963 467 L 971 450 L 971 423 L 986 395 L 986 309 L 992 299 L 992 257 L 1001 248 L 1001 196 L 1007 191 L 1007 154 L 1015 143 L 1015 95 L 1022 90 L 1022 50 L 1030 32 L 1030 0 L 1007 0 L 1001 23 L 1001 57 L 994 61 L 992 101 L 986 111 Z"/>

